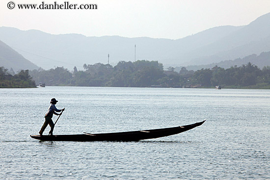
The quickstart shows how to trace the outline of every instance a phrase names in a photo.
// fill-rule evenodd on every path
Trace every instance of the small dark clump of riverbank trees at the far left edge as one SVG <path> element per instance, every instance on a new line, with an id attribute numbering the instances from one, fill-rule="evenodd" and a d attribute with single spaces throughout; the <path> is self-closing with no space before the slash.
<path id="1" fill-rule="evenodd" d="M 28 70 L 22 70 L 18 74 L 12 76 L 7 69 L 0 67 L 0 88 L 33 88 L 36 83 L 29 76 Z"/>

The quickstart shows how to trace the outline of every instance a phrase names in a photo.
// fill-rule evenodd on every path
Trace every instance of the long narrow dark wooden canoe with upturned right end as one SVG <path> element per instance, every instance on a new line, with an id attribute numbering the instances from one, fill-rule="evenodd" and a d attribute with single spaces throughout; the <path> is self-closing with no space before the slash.
<path id="1" fill-rule="evenodd" d="M 186 126 L 178 126 L 173 128 L 137 130 L 128 132 L 98 133 L 91 134 L 71 134 L 71 135 L 30 135 L 34 139 L 42 141 L 139 141 L 143 139 L 153 139 L 159 137 L 178 134 L 197 126 L 201 126 L 205 122 L 199 122 Z"/>

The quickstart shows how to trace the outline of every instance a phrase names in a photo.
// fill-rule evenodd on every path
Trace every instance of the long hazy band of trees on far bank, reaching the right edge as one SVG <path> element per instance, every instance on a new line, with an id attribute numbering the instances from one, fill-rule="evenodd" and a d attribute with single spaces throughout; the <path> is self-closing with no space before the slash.
<path id="1" fill-rule="evenodd" d="M 110 86 L 110 87 L 186 87 L 270 89 L 270 67 L 262 70 L 250 62 L 228 69 L 213 67 L 188 71 L 185 67 L 175 72 L 173 67 L 163 69 L 158 61 L 120 61 L 116 66 L 96 63 L 83 65 L 84 71 L 74 67 L 73 72 L 64 67 L 50 70 L 33 70 L 29 74 L 36 83 L 46 86 Z"/>

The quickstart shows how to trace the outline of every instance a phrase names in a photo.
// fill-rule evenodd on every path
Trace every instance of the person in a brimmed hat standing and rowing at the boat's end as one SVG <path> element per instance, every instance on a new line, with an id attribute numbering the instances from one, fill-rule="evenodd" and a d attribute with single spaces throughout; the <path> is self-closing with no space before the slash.
<path id="1" fill-rule="evenodd" d="M 50 105 L 50 107 L 49 107 L 49 109 L 48 109 L 48 112 L 47 112 L 46 115 L 45 115 L 45 122 L 44 122 L 42 128 L 41 128 L 40 131 L 39 131 L 39 134 L 40 134 L 40 135 L 42 135 L 43 131 L 46 129 L 46 127 L 48 126 L 48 124 L 49 124 L 50 127 L 51 127 L 51 130 L 50 130 L 50 132 L 49 132 L 49 135 L 53 135 L 53 131 L 54 131 L 54 122 L 53 122 L 53 120 L 52 120 L 53 114 L 59 116 L 59 115 L 61 115 L 61 113 L 60 113 L 60 114 L 57 114 L 56 112 L 60 112 L 60 111 L 64 111 L 64 110 L 65 110 L 65 108 L 63 108 L 63 109 L 57 109 L 57 108 L 55 107 L 55 104 L 56 104 L 57 102 L 58 102 L 58 101 L 56 101 L 55 98 L 53 98 L 53 99 L 51 100 L 51 105 Z M 55 111 L 56 111 L 56 112 L 55 112 Z"/>

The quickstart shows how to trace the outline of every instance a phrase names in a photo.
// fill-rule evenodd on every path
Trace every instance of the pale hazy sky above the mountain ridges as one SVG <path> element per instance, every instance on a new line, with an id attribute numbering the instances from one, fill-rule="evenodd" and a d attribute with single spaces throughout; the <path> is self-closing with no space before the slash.
<path id="1" fill-rule="evenodd" d="M 15 8 L 8 9 L 8 2 Z M 98 9 L 22 10 L 17 4 L 97 4 Z M 52 34 L 179 39 L 215 26 L 247 25 L 270 0 L 1 0 L 0 26 Z"/>

